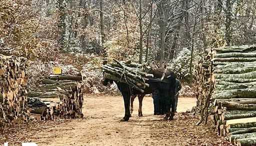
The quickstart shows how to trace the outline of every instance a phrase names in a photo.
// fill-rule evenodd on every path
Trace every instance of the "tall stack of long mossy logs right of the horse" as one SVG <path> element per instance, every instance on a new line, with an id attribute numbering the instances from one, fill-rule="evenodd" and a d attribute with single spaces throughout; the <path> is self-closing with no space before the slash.
<path id="1" fill-rule="evenodd" d="M 256 46 L 209 49 L 196 65 L 200 121 L 237 146 L 256 145 Z"/>

